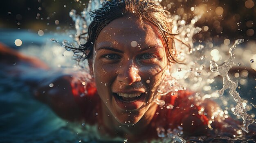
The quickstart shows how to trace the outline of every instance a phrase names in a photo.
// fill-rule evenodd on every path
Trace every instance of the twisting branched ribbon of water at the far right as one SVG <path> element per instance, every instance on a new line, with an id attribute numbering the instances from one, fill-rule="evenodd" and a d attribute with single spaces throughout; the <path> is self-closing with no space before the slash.
<path id="1" fill-rule="evenodd" d="M 236 40 L 234 45 L 229 49 L 230 57 L 227 59 L 222 65 L 216 64 L 213 60 L 211 60 L 210 70 L 212 72 L 218 73 L 223 78 L 223 87 L 218 91 L 218 95 L 223 95 L 226 89 L 230 89 L 229 93 L 236 101 L 237 105 L 235 110 L 233 111 L 235 115 L 240 116 L 243 119 L 243 127 L 242 130 L 249 133 L 248 126 L 255 122 L 249 114 L 246 113 L 246 110 L 243 108 L 243 100 L 239 96 L 239 93 L 236 92 L 236 88 L 238 87 L 238 83 L 234 82 L 230 79 L 228 72 L 229 70 L 235 66 L 233 59 L 235 58 L 234 50 L 237 45 L 243 43 L 243 39 Z"/>

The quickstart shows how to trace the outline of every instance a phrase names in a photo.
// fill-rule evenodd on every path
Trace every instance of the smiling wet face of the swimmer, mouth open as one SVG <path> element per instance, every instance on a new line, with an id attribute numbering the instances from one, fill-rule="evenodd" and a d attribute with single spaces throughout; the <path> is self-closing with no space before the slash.
<path id="1" fill-rule="evenodd" d="M 153 100 L 168 64 L 153 24 L 141 25 L 129 15 L 113 20 L 99 33 L 89 60 L 103 109 L 126 125 L 153 117 Z"/>

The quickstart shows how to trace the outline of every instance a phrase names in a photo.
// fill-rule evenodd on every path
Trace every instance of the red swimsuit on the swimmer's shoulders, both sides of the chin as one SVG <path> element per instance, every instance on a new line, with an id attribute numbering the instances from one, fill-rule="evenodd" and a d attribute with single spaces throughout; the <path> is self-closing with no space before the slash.
<path id="1" fill-rule="evenodd" d="M 86 92 L 83 86 L 78 88 L 77 85 L 72 85 L 72 92 L 83 112 L 83 119 L 86 123 L 91 125 L 100 124 L 97 116 L 101 114 L 101 99 L 97 94 L 97 89 L 92 83 L 88 83 L 85 89 Z M 86 93 L 86 95 L 83 93 Z M 164 130 L 179 128 L 189 132 L 197 130 L 199 126 L 206 127 L 209 119 L 203 110 L 201 110 L 202 107 L 196 104 L 196 101 L 193 99 L 193 94 L 193 92 L 183 90 L 176 92 L 175 95 L 168 94 L 162 96 L 165 105 L 158 106 L 155 116 L 150 122 L 150 132 L 157 135 L 157 127 L 162 127 Z M 190 118 L 191 121 L 189 120 Z M 198 121 L 195 123 L 195 120 Z M 188 129 L 186 129 L 186 127 L 184 128 L 184 126 L 188 125 Z"/>

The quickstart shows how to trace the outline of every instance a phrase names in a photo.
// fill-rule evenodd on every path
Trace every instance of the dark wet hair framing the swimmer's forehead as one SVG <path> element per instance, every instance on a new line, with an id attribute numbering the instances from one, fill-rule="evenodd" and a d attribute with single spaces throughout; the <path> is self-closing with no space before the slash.
<path id="1" fill-rule="evenodd" d="M 102 8 L 95 9 L 89 14 L 92 22 L 89 25 L 88 33 L 82 34 L 88 34 L 85 37 L 87 42 L 81 44 L 79 48 L 73 49 L 74 53 L 82 53 L 79 55 L 79 60 L 91 57 L 93 45 L 100 31 L 107 24 L 112 20 L 130 14 L 139 17 L 141 22 L 146 20 L 155 25 L 164 40 L 168 60 L 170 62 L 179 62 L 173 40 L 174 34 L 171 33 L 171 23 L 168 20 L 170 13 L 152 0 L 105 0 Z M 80 36 L 83 37 L 82 35 Z"/>

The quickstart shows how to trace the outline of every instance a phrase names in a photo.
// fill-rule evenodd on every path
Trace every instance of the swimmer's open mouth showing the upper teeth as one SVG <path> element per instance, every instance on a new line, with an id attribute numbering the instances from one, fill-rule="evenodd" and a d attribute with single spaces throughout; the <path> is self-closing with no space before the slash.
<path id="1" fill-rule="evenodd" d="M 113 93 L 117 105 L 123 110 L 136 110 L 144 103 L 144 93 Z"/>

